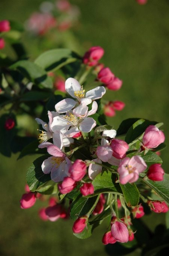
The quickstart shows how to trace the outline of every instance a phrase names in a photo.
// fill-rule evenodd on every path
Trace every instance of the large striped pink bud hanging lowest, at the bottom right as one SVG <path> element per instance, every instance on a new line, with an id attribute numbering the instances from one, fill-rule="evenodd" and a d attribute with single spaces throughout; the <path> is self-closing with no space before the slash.
<path id="1" fill-rule="evenodd" d="M 117 242 L 126 243 L 129 241 L 129 231 L 126 225 L 118 218 L 113 218 L 111 234 Z"/>

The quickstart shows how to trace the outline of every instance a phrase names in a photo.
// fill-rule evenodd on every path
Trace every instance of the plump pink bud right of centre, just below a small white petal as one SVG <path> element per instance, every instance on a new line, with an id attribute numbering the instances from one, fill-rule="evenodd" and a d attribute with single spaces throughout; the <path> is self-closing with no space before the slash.
<path id="1" fill-rule="evenodd" d="M 129 145 L 124 140 L 113 139 L 111 142 L 113 149 L 113 156 L 121 159 L 126 157 L 126 152 L 129 149 Z"/>

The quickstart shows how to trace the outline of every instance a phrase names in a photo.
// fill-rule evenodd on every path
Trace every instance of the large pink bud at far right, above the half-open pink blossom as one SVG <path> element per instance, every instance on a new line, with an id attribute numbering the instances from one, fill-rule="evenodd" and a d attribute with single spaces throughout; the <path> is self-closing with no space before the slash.
<path id="1" fill-rule="evenodd" d="M 164 141 L 165 141 L 165 136 L 163 132 L 159 130 L 159 128 L 157 128 L 154 125 L 150 125 L 147 127 L 143 136 L 144 148 L 147 148 L 147 149 L 157 148 L 157 146 L 159 146 Z"/>

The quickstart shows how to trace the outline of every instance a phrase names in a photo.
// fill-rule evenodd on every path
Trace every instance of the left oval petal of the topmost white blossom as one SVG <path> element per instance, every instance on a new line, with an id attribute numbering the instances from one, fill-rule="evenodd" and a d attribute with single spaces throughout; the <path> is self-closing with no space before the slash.
<path id="1" fill-rule="evenodd" d="M 58 113 L 64 113 L 74 108 L 76 103 L 74 99 L 63 99 L 55 105 L 55 110 Z"/>

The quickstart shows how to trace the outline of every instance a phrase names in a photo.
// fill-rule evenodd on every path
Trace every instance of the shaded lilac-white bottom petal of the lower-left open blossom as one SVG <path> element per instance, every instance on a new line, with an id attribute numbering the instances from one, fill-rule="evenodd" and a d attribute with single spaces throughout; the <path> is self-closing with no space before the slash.
<path id="1" fill-rule="evenodd" d="M 54 166 L 51 171 L 51 179 L 55 182 L 63 181 L 63 178 L 66 177 L 65 173 L 66 161 L 64 160 L 58 167 Z"/>

